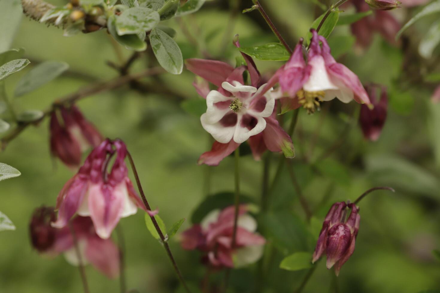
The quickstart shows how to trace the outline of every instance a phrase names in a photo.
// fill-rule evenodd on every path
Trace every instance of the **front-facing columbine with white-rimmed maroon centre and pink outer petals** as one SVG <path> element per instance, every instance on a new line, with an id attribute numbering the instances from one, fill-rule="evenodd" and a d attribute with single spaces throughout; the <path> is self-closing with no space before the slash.
<path id="1" fill-rule="evenodd" d="M 235 45 L 239 47 L 238 40 Z M 247 66 L 233 68 L 214 60 L 187 59 L 187 69 L 213 83 L 217 90 L 209 91 L 209 85 L 196 80 L 194 87 L 206 99 L 207 111 L 201 117 L 202 126 L 216 141 L 211 151 L 205 152 L 199 164 L 216 166 L 238 146 L 248 140 L 255 159 L 260 159 L 265 150 L 283 152 L 293 157 L 290 136 L 275 119 L 275 100 L 272 90 L 261 83 L 252 58 L 242 54 Z M 243 72 L 249 72 L 251 85 L 244 85 Z M 262 93 L 262 90 L 265 90 Z"/>

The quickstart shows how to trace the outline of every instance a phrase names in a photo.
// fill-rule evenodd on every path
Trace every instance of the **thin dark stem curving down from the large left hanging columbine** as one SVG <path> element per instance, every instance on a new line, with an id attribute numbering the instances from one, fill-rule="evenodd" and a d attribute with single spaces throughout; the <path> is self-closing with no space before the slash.
<path id="1" fill-rule="evenodd" d="M 137 186 L 138 186 L 139 193 L 140 193 L 140 196 L 141 196 L 141 198 L 142 198 L 143 204 L 144 204 L 144 206 L 145 206 L 145 208 L 146 208 L 147 210 L 151 210 L 151 208 L 150 208 L 150 204 L 148 204 L 147 198 L 145 197 L 145 193 L 143 192 L 142 185 L 140 184 L 139 175 L 138 175 L 138 173 L 137 173 L 136 166 L 135 166 L 135 163 L 134 163 L 134 161 L 133 161 L 133 157 L 132 157 L 132 155 L 130 154 L 130 152 L 128 152 L 128 151 L 127 151 L 127 156 L 128 156 L 128 160 L 130 161 L 130 165 L 132 166 L 133 174 L 134 174 L 134 176 L 135 176 L 136 184 L 137 184 Z M 163 233 L 162 233 L 162 231 L 161 231 L 161 228 L 159 228 L 159 224 L 158 224 L 158 222 L 156 221 L 156 219 L 154 218 L 154 216 L 150 216 L 150 218 L 151 218 L 151 221 L 153 222 L 154 228 L 156 228 L 156 231 L 158 232 L 158 235 L 159 235 L 159 237 L 161 238 L 161 243 L 163 244 L 163 246 L 164 246 L 164 248 L 165 248 L 165 252 L 167 253 L 167 255 L 168 255 L 168 257 L 169 257 L 169 260 L 171 261 L 171 264 L 172 264 L 172 266 L 173 266 L 173 268 L 174 268 L 174 271 L 176 271 L 177 277 L 179 278 L 179 280 L 180 280 L 180 282 L 182 283 L 182 286 L 185 288 L 185 290 L 186 290 L 188 293 L 191 293 L 191 290 L 188 288 L 188 286 L 187 286 L 185 280 L 183 279 L 182 274 L 180 273 L 179 268 L 177 267 L 176 260 L 174 260 L 174 257 L 173 257 L 173 255 L 172 255 L 172 253 L 171 253 L 171 250 L 170 250 L 170 248 L 169 248 L 168 242 L 165 240 L 165 236 L 163 235 Z"/>

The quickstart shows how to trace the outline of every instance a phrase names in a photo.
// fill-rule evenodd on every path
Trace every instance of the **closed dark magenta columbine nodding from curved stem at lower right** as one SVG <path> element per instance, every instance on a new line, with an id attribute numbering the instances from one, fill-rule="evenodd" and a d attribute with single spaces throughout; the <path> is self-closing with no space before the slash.
<path id="1" fill-rule="evenodd" d="M 347 210 L 352 209 L 350 216 L 345 221 Z M 359 231 L 359 208 L 353 204 L 344 202 L 334 203 L 327 213 L 323 228 L 319 233 L 315 252 L 313 253 L 314 263 L 325 252 L 327 255 L 327 268 L 335 266 L 336 275 L 348 258 L 355 250 L 356 236 Z"/>

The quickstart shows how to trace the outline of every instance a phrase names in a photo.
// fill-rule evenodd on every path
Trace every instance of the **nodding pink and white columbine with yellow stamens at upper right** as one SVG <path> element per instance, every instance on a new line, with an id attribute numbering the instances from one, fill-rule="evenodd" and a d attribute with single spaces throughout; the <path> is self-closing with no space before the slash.
<path id="1" fill-rule="evenodd" d="M 354 99 L 358 103 L 369 105 L 367 92 L 356 74 L 334 60 L 327 40 L 323 36 L 319 36 L 315 29 L 311 29 L 311 32 L 313 36 L 307 53 L 307 63 L 303 56 L 303 40 L 300 40 L 292 57 L 275 73 L 266 86 L 268 90 L 279 82 L 281 96 L 283 94 L 289 96 L 281 100 L 282 112 L 302 105 L 308 113 L 313 113 L 319 107 L 319 102 L 334 98 L 344 103 Z M 322 43 L 322 47 L 319 42 Z"/>

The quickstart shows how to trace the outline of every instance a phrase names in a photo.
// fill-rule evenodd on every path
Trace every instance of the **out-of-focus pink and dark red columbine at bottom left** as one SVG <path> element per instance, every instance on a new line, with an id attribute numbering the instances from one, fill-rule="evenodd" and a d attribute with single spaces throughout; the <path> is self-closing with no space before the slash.
<path id="1" fill-rule="evenodd" d="M 67 262 L 79 265 L 70 228 L 52 227 L 50 221 L 53 219 L 53 207 L 43 206 L 35 210 L 29 225 L 33 247 L 38 252 L 51 256 L 63 253 Z M 119 275 L 119 250 L 113 241 L 99 238 L 89 217 L 75 217 L 72 220 L 72 228 L 83 264 L 91 263 L 107 277 L 116 278 Z"/>

